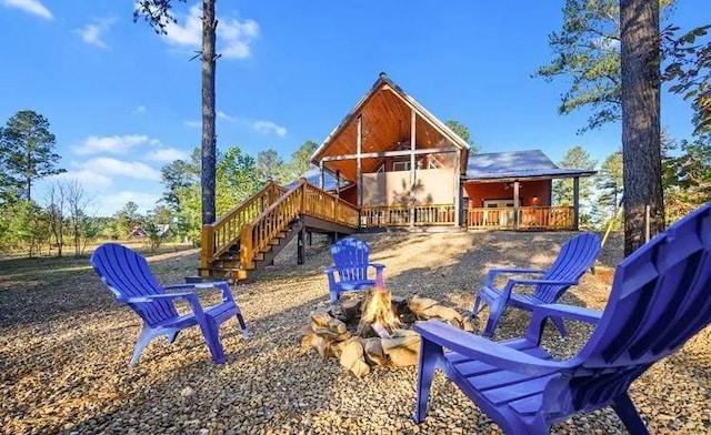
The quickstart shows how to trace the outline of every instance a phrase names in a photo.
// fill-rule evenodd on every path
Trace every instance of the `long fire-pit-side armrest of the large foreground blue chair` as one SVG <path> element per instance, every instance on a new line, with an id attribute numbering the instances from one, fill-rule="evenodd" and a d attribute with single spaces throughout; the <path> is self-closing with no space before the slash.
<path id="1" fill-rule="evenodd" d="M 422 340 L 452 350 L 482 363 L 530 375 L 555 373 L 569 366 L 565 362 L 541 360 L 521 351 L 474 335 L 441 321 L 430 320 L 414 325 Z"/>

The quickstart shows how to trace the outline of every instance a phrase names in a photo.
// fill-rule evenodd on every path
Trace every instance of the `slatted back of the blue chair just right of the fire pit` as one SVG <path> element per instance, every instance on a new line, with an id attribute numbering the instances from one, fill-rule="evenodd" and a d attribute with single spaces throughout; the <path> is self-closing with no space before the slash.
<path id="1" fill-rule="evenodd" d="M 555 262 L 543 275 L 543 280 L 578 281 L 600 255 L 600 237 L 595 233 L 582 233 L 561 246 Z M 568 286 L 538 285 L 533 296 L 550 304 L 568 290 Z"/>

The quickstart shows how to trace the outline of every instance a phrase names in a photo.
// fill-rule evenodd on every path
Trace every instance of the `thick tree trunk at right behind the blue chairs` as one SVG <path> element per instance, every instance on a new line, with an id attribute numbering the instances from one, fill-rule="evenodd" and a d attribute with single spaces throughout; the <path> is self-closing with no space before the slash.
<path id="1" fill-rule="evenodd" d="M 620 23 L 624 254 L 629 255 L 644 244 L 647 205 L 651 209 L 651 234 L 664 230 L 659 2 L 621 0 Z"/>

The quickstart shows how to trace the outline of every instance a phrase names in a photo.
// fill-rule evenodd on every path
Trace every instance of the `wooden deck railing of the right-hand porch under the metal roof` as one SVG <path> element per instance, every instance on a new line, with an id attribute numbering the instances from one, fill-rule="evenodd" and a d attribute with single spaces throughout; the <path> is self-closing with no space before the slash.
<path id="1" fill-rule="evenodd" d="M 478 230 L 573 230 L 572 206 L 475 208 L 467 211 L 467 226 Z"/>

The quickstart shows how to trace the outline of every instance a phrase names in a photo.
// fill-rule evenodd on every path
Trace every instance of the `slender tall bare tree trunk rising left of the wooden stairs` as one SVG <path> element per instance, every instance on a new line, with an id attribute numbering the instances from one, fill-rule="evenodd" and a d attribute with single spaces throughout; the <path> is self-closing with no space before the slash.
<path id="1" fill-rule="evenodd" d="M 214 1 L 202 1 L 202 223 L 216 220 L 214 184 L 217 140 L 214 133 Z"/>

